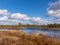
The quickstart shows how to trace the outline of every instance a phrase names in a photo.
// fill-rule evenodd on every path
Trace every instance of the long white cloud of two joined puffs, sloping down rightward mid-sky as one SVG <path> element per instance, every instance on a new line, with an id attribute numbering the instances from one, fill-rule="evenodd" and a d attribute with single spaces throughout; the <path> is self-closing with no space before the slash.
<path id="1" fill-rule="evenodd" d="M 30 21 L 30 22 L 33 22 L 33 23 L 36 23 L 36 24 L 47 24 L 48 21 L 47 20 L 44 20 L 40 17 L 28 17 L 26 14 L 21 14 L 21 13 L 13 13 L 11 15 L 11 18 L 14 18 L 14 19 L 22 19 L 22 20 L 25 20 L 25 21 Z"/>

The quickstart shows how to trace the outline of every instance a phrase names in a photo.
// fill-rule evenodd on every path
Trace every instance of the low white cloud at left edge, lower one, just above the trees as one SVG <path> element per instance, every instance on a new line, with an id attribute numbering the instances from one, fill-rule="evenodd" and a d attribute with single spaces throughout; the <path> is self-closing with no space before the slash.
<path id="1" fill-rule="evenodd" d="M 19 23 L 20 21 L 19 20 L 16 20 L 16 19 L 9 19 L 7 16 L 3 16 L 0 18 L 0 23 L 1 24 L 17 24 Z"/>

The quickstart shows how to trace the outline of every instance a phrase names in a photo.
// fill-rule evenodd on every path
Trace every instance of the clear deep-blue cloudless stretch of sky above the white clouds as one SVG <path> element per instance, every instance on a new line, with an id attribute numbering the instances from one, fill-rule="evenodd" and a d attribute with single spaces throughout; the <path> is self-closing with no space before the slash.
<path id="1" fill-rule="evenodd" d="M 0 9 L 20 12 L 29 16 L 44 16 L 49 2 L 55 0 L 0 0 Z"/>

